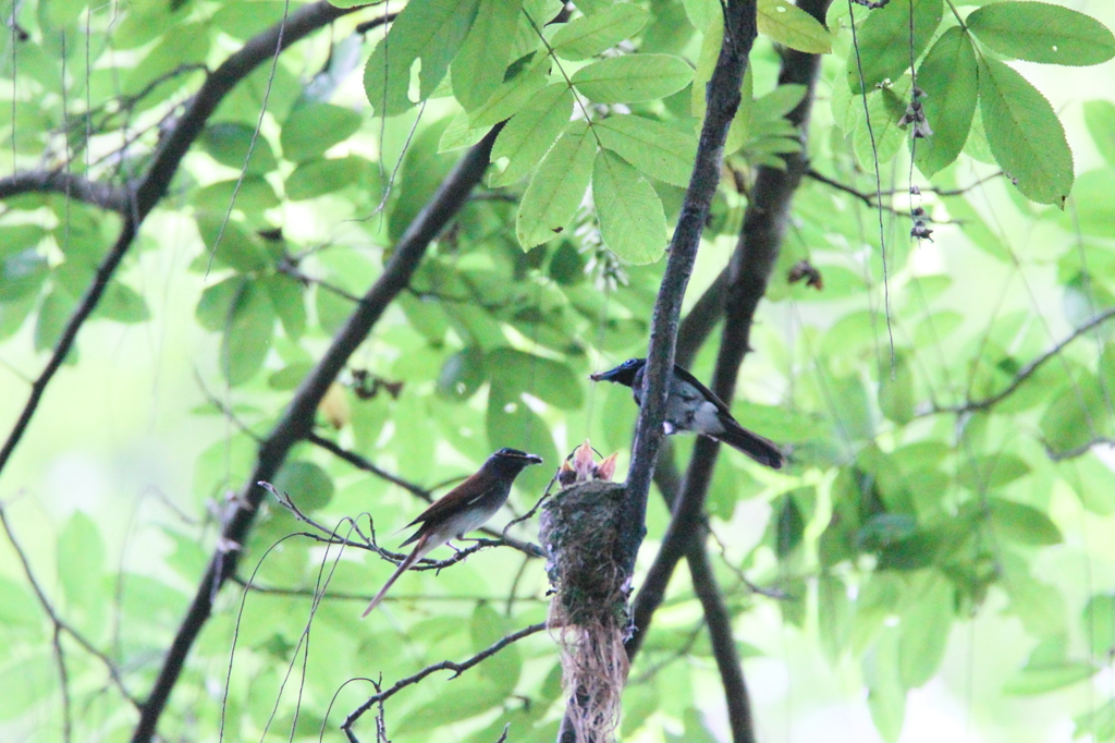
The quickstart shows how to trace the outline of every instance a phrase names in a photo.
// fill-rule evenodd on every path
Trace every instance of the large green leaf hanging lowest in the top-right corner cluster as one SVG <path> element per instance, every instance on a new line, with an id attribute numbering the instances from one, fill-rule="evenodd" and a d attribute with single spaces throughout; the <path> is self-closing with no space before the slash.
<path id="1" fill-rule="evenodd" d="M 1073 152 L 1057 114 L 1007 65 L 982 57 L 980 110 L 991 152 L 1027 199 L 1061 206 L 1073 187 Z"/>

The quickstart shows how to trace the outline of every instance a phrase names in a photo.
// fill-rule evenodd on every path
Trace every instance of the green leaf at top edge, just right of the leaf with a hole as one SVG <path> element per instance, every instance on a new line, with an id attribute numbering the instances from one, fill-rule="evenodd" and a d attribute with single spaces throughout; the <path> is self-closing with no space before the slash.
<path id="1" fill-rule="evenodd" d="M 479 0 L 476 21 L 452 65 L 453 95 L 465 110 L 479 107 L 503 83 L 521 6 L 515 0 Z"/>

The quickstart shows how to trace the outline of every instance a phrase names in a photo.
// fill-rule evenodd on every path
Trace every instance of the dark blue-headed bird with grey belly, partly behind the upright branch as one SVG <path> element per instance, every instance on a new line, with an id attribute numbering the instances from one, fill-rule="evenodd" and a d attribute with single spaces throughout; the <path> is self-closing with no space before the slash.
<path id="1" fill-rule="evenodd" d="M 642 375 L 646 366 L 644 358 L 629 358 L 614 369 L 598 372 L 589 378 L 631 387 L 636 405 L 642 405 Z M 739 425 L 724 401 L 677 364 L 670 376 L 670 393 L 666 402 L 662 428 L 668 436 L 679 431 L 708 436 L 738 448 L 759 464 L 774 470 L 780 470 L 786 463 L 785 455 L 774 442 Z"/>

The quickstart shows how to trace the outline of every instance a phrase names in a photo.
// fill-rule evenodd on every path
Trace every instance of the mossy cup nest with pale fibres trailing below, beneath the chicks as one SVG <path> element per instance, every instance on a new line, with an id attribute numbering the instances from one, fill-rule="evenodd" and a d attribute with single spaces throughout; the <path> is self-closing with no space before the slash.
<path id="1" fill-rule="evenodd" d="M 562 648 L 562 684 L 578 741 L 610 743 L 627 681 L 623 640 L 631 576 L 615 559 L 622 484 L 575 483 L 542 506 L 541 538 L 554 588 L 550 628 Z"/>

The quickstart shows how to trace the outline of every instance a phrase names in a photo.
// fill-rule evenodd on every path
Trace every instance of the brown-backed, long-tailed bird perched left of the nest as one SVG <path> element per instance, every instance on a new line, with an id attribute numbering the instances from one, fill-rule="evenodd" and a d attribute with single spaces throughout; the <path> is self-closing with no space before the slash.
<path id="1" fill-rule="evenodd" d="M 371 599 L 371 604 L 360 616 L 367 617 L 371 614 L 371 610 L 384 600 L 387 589 L 399 579 L 399 576 L 414 567 L 435 547 L 440 547 L 454 537 L 464 537 L 465 533 L 483 527 L 507 502 L 511 484 L 515 482 L 518 473 L 529 465 L 541 462 L 542 457 L 536 454 L 527 454 L 517 448 L 501 448 L 487 457 L 476 474 L 439 498 L 433 505 L 423 511 L 421 515 L 408 523 L 405 528 L 410 528 L 416 523 L 421 524 L 418 527 L 418 531 L 400 546 L 406 547 L 411 542 L 417 542 L 414 551 L 399 563 L 398 569 L 387 579 L 384 587 L 376 594 L 376 598 Z"/>

